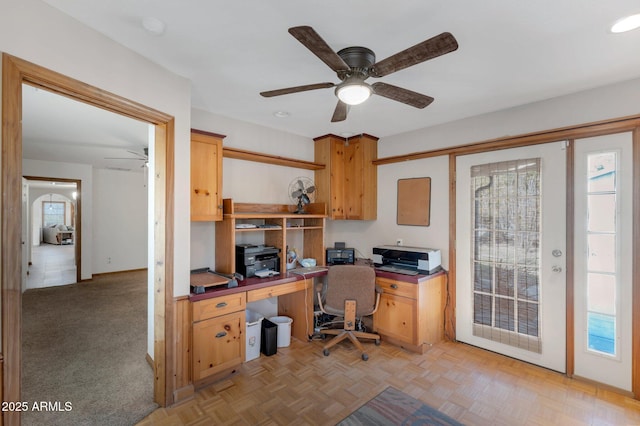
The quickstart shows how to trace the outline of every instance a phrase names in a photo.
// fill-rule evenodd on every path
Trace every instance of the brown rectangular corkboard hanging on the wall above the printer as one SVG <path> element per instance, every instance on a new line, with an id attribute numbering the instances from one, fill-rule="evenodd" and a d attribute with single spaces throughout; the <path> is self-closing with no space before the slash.
<path id="1" fill-rule="evenodd" d="M 398 225 L 429 226 L 431 178 L 398 179 Z"/>

